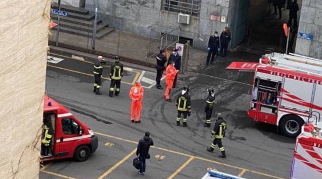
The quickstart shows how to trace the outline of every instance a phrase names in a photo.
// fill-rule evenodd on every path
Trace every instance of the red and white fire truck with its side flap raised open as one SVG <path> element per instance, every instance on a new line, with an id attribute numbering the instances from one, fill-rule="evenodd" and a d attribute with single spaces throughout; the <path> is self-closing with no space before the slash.
<path id="1" fill-rule="evenodd" d="M 309 121 L 322 127 L 322 60 L 271 50 L 259 63 L 232 62 L 226 69 L 254 71 L 247 112 L 254 121 L 276 125 L 289 137 Z"/>

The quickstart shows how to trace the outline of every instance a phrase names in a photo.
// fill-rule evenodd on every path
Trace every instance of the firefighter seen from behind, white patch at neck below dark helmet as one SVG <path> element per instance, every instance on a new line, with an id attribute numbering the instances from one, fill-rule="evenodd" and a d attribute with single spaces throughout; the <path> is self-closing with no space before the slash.
<path id="1" fill-rule="evenodd" d="M 177 101 L 175 103 L 178 116 L 177 116 L 177 126 L 180 125 L 181 114 L 183 114 L 183 127 L 187 126 L 187 116 L 191 114 L 191 106 L 190 106 L 190 95 L 189 95 L 189 86 L 185 86 L 181 91 L 181 94 L 178 96 Z"/>

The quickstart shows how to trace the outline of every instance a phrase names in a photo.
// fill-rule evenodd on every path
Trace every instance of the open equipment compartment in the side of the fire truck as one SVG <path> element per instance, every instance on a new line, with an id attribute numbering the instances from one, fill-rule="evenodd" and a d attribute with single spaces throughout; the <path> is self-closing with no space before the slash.
<path id="1" fill-rule="evenodd" d="M 255 78 L 250 109 L 277 115 L 281 82 Z"/>

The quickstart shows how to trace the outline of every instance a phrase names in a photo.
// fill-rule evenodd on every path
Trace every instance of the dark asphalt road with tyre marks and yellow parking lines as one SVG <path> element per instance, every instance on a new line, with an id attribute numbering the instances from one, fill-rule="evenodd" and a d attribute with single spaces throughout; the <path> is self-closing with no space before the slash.
<path id="1" fill-rule="evenodd" d="M 103 95 L 93 90 L 92 64 L 64 58 L 48 63 L 46 90 L 62 103 L 99 137 L 99 148 L 85 162 L 72 159 L 45 163 L 40 178 L 201 178 L 213 169 L 244 178 L 288 178 L 295 139 L 277 132 L 275 126 L 255 123 L 247 116 L 251 91 L 251 72 L 241 75 L 224 70 L 232 60 L 258 57 L 246 53 L 231 53 L 230 58 L 216 60 L 215 65 L 199 67 L 178 78 L 177 88 L 171 91 L 175 101 L 183 85 L 190 85 L 192 115 L 188 126 L 176 126 L 175 103 L 166 102 L 164 90 L 158 90 L 151 80 L 155 73 L 129 68 L 119 96 L 108 96 L 109 67 L 104 67 Z M 145 86 L 141 123 L 130 122 L 128 92 L 137 78 L 144 78 Z M 229 80 L 226 80 L 229 79 Z M 164 86 L 164 81 L 162 81 Z M 206 89 L 213 87 L 216 102 L 213 111 L 223 113 L 227 121 L 223 146 L 227 158 L 219 158 L 220 151 L 209 153 L 212 128 L 203 127 Z M 212 125 L 213 127 L 213 125 Z M 132 166 L 137 141 L 149 131 L 155 147 L 150 149 L 147 174 L 141 176 Z"/>

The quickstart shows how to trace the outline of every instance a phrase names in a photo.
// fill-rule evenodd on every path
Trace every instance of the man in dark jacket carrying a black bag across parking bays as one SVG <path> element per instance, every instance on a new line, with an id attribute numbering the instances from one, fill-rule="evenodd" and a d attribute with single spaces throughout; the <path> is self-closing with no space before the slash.
<path id="1" fill-rule="evenodd" d="M 145 159 L 147 158 L 147 154 L 149 153 L 150 146 L 153 146 L 153 140 L 150 138 L 150 132 L 145 132 L 145 136 L 143 139 L 139 140 L 137 144 L 137 157 L 142 162 L 140 171 L 138 174 L 144 175 L 145 173 Z"/>

